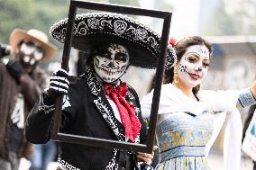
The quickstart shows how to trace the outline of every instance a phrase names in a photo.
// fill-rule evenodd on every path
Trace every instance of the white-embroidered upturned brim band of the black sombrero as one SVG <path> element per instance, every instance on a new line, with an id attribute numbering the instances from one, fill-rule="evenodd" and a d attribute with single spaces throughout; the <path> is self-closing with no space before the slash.
<path id="1" fill-rule="evenodd" d="M 68 18 L 61 20 L 50 27 L 50 34 L 59 42 L 64 43 Z M 133 18 L 117 13 L 82 13 L 76 16 L 74 36 L 114 35 L 123 40 L 130 40 L 140 44 L 157 58 L 160 50 L 160 35 L 150 27 L 136 22 Z M 172 67 L 177 61 L 174 50 L 168 47 L 166 66 Z M 149 66 L 155 67 L 155 66 Z"/>

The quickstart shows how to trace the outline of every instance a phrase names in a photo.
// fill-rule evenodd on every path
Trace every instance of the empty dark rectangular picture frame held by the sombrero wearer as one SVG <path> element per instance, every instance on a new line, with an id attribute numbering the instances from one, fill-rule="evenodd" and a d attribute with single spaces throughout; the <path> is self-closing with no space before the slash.
<path id="1" fill-rule="evenodd" d="M 74 27 L 75 17 L 76 17 L 78 8 L 105 11 L 110 13 L 125 13 L 125 14 L 133 14 L 133 15 L 150 16 L 154 18 L 163 19 L 163 26 L 162 26 L 161 38 L 160 38 L 160 53 L 158 58 L 158 67 L 156 69 L 154 93 L 153 93 L 152 104 L 151 104 L 151 116 L 150 116 L 150 122 L 149 122 L 148 138 L 147 138 L 146 144 L 137 144 L 137 143 L 121 142 L 117 140 L 98 139 L 98 138 L 91 138 L 86 136 L 60 133 L 59 126 L 60 126 L 60 120 L 61 120 L 61 107 L 62 107 L 63 96 L 60 96 L 56 102 L 56 109 L 54 112 L 55 115 L 54 115 L 50 138 L 57 140 L 59 142 L 77 143 L 77 144 L 89 145 L 94 147 L 118 148 L 123 150 L 133 150 L 135 152 L 141 151 L 141 152 L 151 153 L 154 145 L 154 139 L 155 139 L 155 130 L 156 130 L 156 123 L 157 123 L 158 109 L 159 109 L 159 102 L 160 102 L 160 89 L 161 89 L 161 82 L 162 82 L 162 77 L 164 72 L 165 56 L 167 53 L 167 46 L 168 46 L 168 40 L 169 40 L 169 26 L 170 26 L 172 13 L 158 11 L 158 10 L 142 9 L 138 7 L 125 6 L 125 5 L 119 5 L 119 4 L 103 4 L 103 3 L 96 3 L 96 2 L 87 2 L 83 0 L 71 0 L 69 5 L 69 20 L 68 20 L 67 31 L 66 31 L 67 33 L 66 33 L 62 63 L 61 63 L 61 67 L 65 70 L 69 70 L 69 54 L 71 49 L 72 37 L 73 37 L 72 30 Z"/>

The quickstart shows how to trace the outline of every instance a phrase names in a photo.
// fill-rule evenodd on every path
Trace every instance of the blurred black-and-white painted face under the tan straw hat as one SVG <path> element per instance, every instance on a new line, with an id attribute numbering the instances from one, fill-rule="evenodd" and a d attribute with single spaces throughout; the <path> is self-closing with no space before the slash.
<path id="1" fill-rule="evenodd" d="M 37 42 L 24 40 L 21 49 L 21 59 L 25 65 L 33 66 L 43 57 L 43 50 L 41 45 Z"/>

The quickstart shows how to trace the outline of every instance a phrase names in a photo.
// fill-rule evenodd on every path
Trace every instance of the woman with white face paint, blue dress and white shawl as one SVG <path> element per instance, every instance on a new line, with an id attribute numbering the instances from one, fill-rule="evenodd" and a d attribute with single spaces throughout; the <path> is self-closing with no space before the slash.
<path id="1" fill-rule="evenodd" d="M 224 139 L 224 169 L 240 169 L 242 121 L 236 104 L 256 103 L 256 82 L 250 88 L 229 91 L 201 90 L 213 53 L 201 37 L 174 45 L 178 62 L 166 69 L 161 87 L 157 139 L 157 170 L 208 170 L 207 155 L 228 113 Z M 151 111 L 152 92 L 142 99 L 142 116 Z M 213 167 L 215 169 L 215 167 Z"/>

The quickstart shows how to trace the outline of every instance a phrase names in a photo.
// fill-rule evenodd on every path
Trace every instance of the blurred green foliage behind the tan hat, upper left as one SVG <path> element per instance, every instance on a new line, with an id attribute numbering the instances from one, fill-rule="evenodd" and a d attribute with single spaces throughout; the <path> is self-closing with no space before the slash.
<path id="1" fill-rule="evenodd" d="M 49 35 L 50 25 L 67 17 L 68 11 L 69 0 L 0 0 L 1 43 L 8 43 L 14 28 L 34 28 Z"/>

